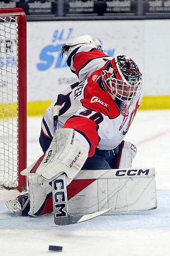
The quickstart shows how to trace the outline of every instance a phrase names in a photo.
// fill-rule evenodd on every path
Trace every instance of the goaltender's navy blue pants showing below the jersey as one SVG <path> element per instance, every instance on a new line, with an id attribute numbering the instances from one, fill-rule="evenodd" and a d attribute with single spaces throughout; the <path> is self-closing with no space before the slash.
<path id="1" fill-rule="evenodd" d="M 51 139 L 47 138 L 41 131 L 39 142 L 43 152 L 46 152 L 50 146 Z M 95 153 L 92 157 L 88 157 L 84 163 L 82 169 L 86 170 L 99 170 L 99 169 L 114 169 L 116 165 L 117 153 L 119 146 L 113 150 L 99 150 L 95 149 Z"/>

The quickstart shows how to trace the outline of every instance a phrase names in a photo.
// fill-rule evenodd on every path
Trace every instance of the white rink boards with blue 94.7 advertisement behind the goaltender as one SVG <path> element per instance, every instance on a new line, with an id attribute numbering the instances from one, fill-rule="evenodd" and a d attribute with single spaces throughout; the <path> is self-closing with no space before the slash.
<path id="1" fill-rule="evenodd" d="M 110 56 L 129 55 L 143 73 L 144 95 L 170 95 L 170 20 L 28 22 L 28 101 L 52 100 L 77 77 L 60 58 L 65 41 L 90 34 Z"/>

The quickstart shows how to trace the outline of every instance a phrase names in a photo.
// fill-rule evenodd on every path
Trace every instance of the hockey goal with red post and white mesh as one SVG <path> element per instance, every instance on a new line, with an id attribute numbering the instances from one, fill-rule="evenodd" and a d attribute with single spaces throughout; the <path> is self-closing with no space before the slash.
<path id="1" fill-rule="evenodd" d="M 26 189 L 26 48 L 25 12 L 0 9 L 0 187 L 19 191 Z"/>

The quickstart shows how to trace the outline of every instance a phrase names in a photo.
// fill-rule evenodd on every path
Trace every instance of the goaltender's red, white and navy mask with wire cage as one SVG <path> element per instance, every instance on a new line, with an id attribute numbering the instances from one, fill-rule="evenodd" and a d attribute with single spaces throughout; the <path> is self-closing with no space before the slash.
<path id="1" fill-rule="evenodd" d="M 141 73 L 136 63 L 128 56 L 119 55 L 111 60 L 109 70 L 102 71 L 104 89 L 113 98 L 132 101 L 141 92 Z"/>

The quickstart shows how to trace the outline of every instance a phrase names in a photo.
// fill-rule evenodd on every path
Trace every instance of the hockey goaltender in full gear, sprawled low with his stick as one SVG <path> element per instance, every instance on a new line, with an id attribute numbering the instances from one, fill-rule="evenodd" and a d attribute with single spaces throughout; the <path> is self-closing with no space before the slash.
<path id="1" fill-rule="evenodd" d="M 136 146 L 124 140 L 142 98 L 138 66 L 129 56 L 107 56 L 90 35 L 65 42 L 63 54 L 79 81 L 45 110 L 44 154 L 21 172 L 29 190 L 6 202 L 9 210 L 54 211 L 55 223 L 65 225 L 156 208 L 155 169 L 131 168 Z"/>

